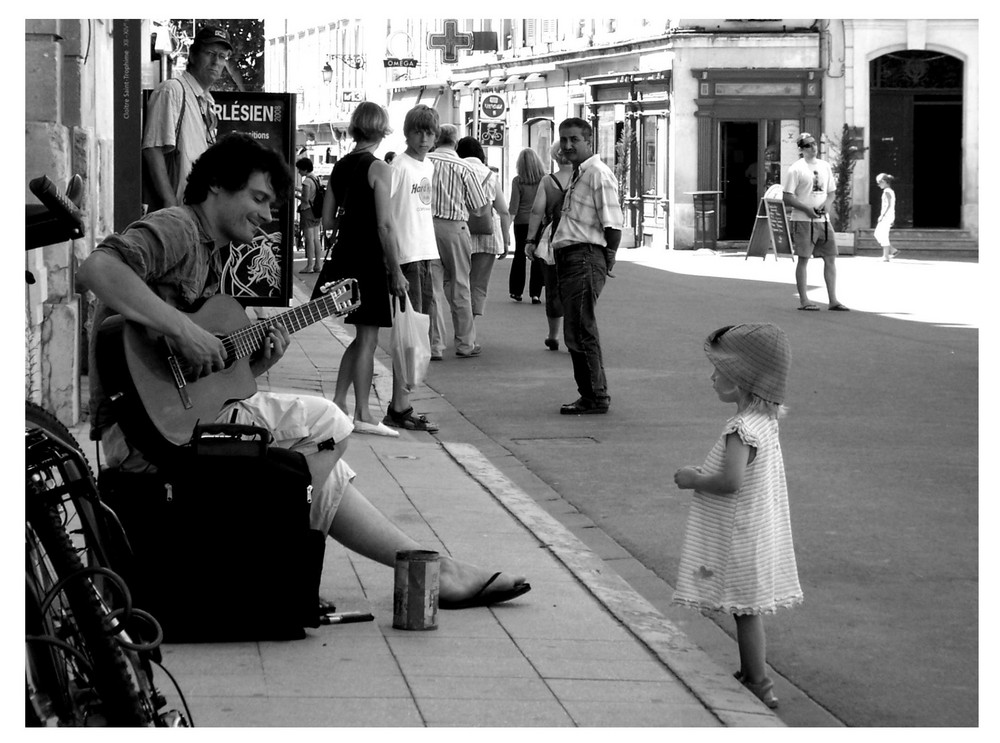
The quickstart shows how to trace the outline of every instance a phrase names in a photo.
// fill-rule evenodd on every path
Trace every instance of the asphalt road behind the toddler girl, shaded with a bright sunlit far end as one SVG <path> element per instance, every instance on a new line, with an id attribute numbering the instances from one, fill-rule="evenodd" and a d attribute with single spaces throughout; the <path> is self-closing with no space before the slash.
<path id="1" fill-rule="evenodd" d="M 766 622 L 769 662 L 797 689 L 779 714 L 976 725 L 978 266 L 844 257 L 838 293 L 855 311 L 798 312 L 789 259 L 621 252 L 599 304 L 609 415 L 559 415 L 577 396 L 570 360 L 542 345 L 541 306 L 507 298 L 509 261 L 479 321 L 482 356 L 449 349 L 428 385 L 669 589 L 689 500 L 672 474 L 702 462 L 732 413 L 703 340 L 777 323 L 793 351 L 781 436 L 806 596 Z M 821 287 L 811 296 L 825 307 Z M 696 641 L 734 657 L 689 615 Z M 718 624 L 732 635 L 731 618 Z"/>

